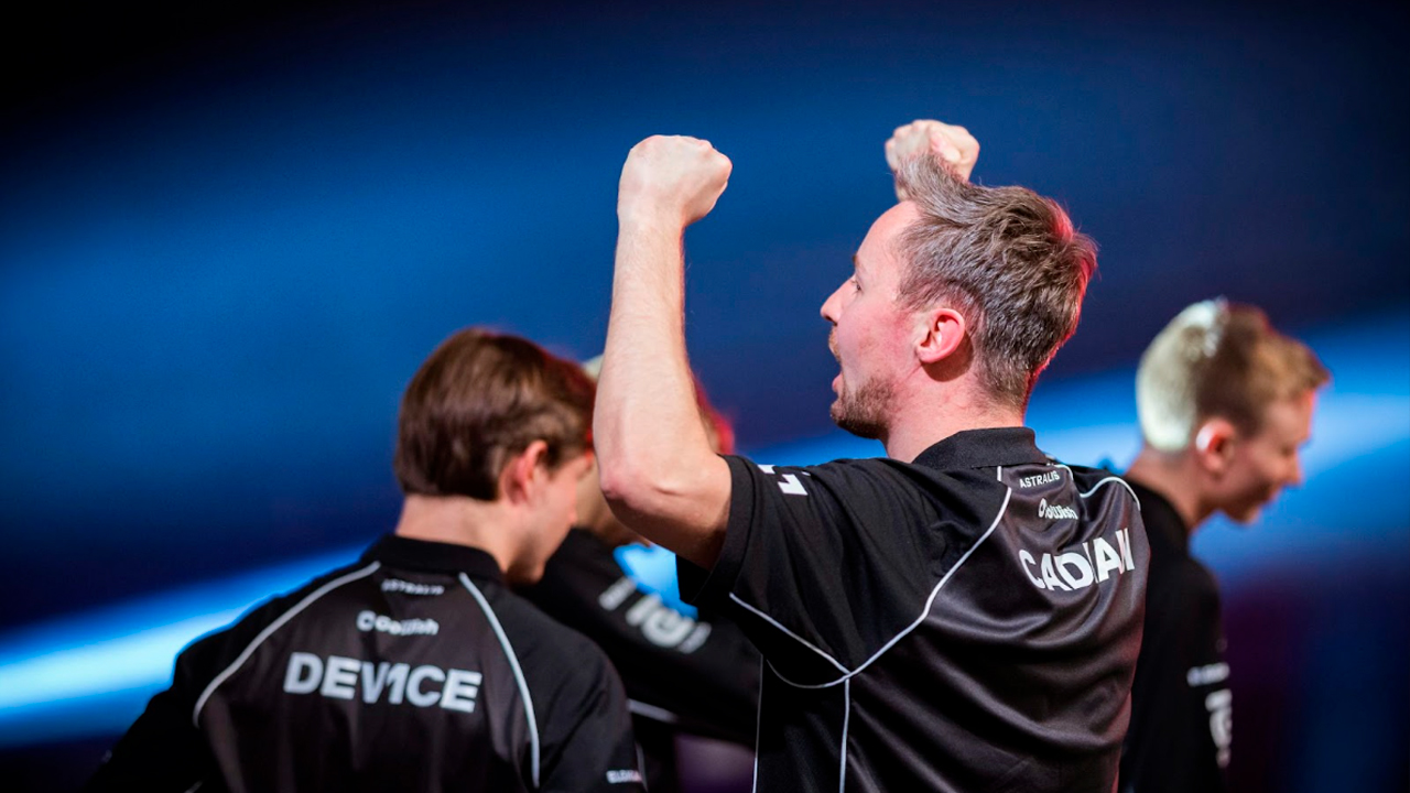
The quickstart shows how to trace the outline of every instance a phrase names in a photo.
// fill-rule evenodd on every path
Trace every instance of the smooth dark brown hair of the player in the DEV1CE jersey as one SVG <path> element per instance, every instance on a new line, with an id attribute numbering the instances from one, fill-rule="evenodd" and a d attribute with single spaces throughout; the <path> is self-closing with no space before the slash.
<path id="1" fill-rule="evenodd" d="M 406 495 L 494 501 L 499 473 L 534 440 L 550 468 L 588 449 L 595 384 L 578 364 L 520 339 L 467 329 L 412 377 L 398 418 L 396 480 Z"/>

